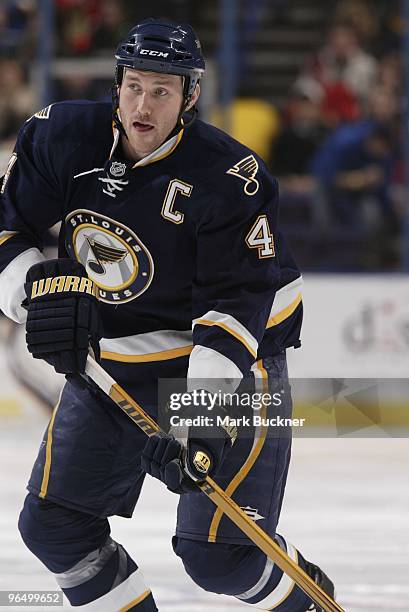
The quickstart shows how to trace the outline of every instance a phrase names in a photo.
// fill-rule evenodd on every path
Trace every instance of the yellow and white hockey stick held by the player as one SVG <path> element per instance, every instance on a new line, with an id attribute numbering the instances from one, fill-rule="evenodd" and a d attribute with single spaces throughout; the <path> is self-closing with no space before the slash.
<path id="1" fill-rule="evenodd" d="M 115 380 L 90 356 L 87 358 L 85 373 L 104 393 L 117 404 L 129 418 L 140 427 L 147 436 L 161 431 L 159 425 L 139 406 L 139 404 L 122 389 Z M 289 576 L 306 593 L 315 604 L 326 612 L 344 612 L 344 610 L 325 593 L 282 549 L 274 542 L 245 512 L 221 489 L 209 476 L 203 482 L 196 483 L 201 491 L 226 514 L 230 520 L 267 557 Z"/>

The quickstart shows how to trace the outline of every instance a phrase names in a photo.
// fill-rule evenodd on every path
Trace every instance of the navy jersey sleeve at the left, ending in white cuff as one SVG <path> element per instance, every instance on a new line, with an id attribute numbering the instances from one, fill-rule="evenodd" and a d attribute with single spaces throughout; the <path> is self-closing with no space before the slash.
<path id="1" fill-rule="evenodd" d="M 18 323 L 27 270 L 44 259 L 43 236 L 62 217 L 46 123 L 34 116 L 23 125 L 0 190 L 0 308 Z"/>

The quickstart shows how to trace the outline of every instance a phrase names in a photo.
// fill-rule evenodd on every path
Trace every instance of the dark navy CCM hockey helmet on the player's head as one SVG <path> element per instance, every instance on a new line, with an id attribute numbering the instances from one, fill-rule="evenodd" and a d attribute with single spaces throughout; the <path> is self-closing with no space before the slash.
<path id="1" fill-rule="evenodd" d="M 177 74 L 183 79 L 183 96 L 188 103 L 205 71 L 201 45 L 190 25 L 146 19 L 132 28 L 115 53 L 116 85 L 124 68 Z"/>

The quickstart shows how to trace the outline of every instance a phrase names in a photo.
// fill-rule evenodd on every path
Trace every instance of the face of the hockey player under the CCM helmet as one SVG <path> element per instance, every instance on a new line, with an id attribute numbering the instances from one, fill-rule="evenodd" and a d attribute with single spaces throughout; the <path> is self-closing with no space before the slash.
<path id="1" fill-rule="evenodd" d="M 198 96 L 199 91 L 188 108 Z M 128 136 L 123 139 L 123 147 L 130 159 L 146 157 L 167 139 L 176 125 L 182 102 L 182 77 L 125 70 L 119 91 L 119 112 Z"/>

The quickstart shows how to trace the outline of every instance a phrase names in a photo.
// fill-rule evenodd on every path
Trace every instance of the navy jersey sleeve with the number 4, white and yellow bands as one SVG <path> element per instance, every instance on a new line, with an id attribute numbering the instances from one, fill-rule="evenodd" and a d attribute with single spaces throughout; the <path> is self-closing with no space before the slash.
<path id="1" fill-rule="evenodd" d="M 230 193 L 213 203 L 197 233 L 188 379 L 236 379 L 237 386 L 257 359 L 279 286 L 278 186 L 266 169 L 253 182 L 227 181 Z"/>

